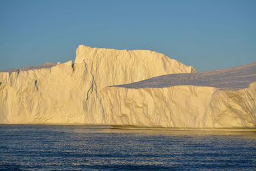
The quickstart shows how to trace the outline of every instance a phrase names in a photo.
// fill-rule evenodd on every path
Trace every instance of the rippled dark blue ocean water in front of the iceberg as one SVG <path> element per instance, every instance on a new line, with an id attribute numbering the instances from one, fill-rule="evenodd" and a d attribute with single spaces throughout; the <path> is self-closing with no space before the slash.
<path id="1" fill-rule="evenodd" d="M 0 125 L 0 170 L 256 170 L 256 132 Z"/>

